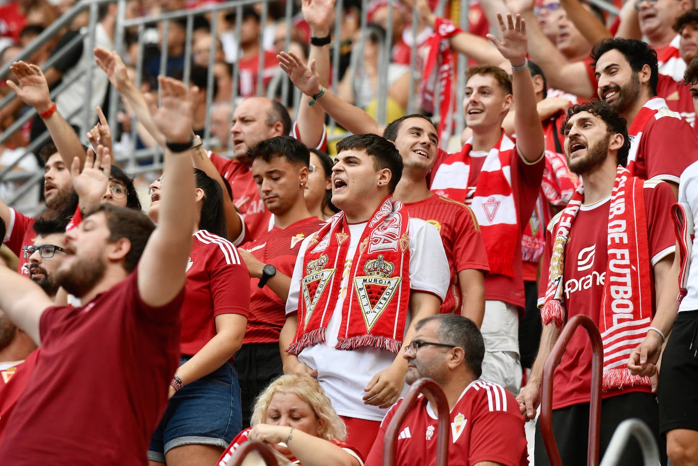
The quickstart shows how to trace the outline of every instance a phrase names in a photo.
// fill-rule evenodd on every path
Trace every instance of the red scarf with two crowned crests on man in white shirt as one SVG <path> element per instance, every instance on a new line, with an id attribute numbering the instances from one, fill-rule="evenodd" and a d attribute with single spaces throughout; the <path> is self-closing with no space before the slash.
<path id="1" fill-rule="evenodd" d="M 389 196 L 366 224 L 351 263 L 337 349 L 400 350 L 410 300 L 408 220 L 402 203 Z M 349 243 L 344 212 L 334 215 L 310 240 L 303 257 L 298 326 L 288 353 L 299 354 L 326 341 Z"/>

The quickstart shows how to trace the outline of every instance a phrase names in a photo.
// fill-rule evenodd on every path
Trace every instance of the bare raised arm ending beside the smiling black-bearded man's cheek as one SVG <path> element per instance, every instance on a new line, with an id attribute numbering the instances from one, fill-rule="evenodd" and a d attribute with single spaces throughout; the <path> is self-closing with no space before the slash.
<path id="1" fill-rule="evenodd" d="M 533 1 L 521 0 L 519 12 L 526 20 L 526 36 L 528 37 L 528 53 L 530 58 L 540 66 L 549 87 L 554 87 L 575 96 L 588 99 L 596 94 L 586 65 L 582 61 L 567 61 L 558 49 L 551 43 L 540 29 L 533 14 Z"/>

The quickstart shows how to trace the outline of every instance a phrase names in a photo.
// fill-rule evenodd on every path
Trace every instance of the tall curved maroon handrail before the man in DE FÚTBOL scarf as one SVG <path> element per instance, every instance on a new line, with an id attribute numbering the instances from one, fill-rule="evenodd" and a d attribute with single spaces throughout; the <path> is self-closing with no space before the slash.
<path id="1" fill-rule="evenodd" d="M 552 425 L 553 409 L 553 374 L 560 364 L 567 343 L 570 342 L 574 330 L 582 326 L 591 340 L 591 406 L 589 409 L 589 443 L 587 449 L 587 465 L 599 464 L 599 436 L 601 429 L 601 377 L 603 369 L 603 344 L 599 329 L 591 318 L 584 315 L 573 316 L 565 325 L 555 346 L 543 366 L 543 395 L 540 405 L 540 430 L 545 444 L 545 450 L 550 458 L 551 466 L 563 466 L 560 451 L 555 441 Z"/>

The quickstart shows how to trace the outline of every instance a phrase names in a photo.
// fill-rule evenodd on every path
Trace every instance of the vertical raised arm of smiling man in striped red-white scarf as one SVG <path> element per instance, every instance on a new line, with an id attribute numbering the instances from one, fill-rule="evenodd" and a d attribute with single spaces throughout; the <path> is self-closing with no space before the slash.
<path id="1" fill-rule="evenodd" d="M 512 64 L 512 87 L 514 89 L 514 129 L 517 133 L 519 152 L 529 162 L 539 160 L 545 150 L 543 126 L 538 115 L 533 80 L 530 78 L 526 63 L 526 22 L 517 15 L 514 22 L 512 15 L 507 15 L 504 24 L 502 15 L 497 15 L 503 40 L 488 34 L 499 52 Z"/>

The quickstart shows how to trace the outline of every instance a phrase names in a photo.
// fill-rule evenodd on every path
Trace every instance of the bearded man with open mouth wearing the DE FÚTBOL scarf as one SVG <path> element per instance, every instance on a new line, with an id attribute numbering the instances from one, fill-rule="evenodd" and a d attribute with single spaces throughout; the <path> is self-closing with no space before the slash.
<path id="1" fill-rule="evenodd" d="M 671 272 L 674 235 L 669 184 L 643 181 L 624 168 L 630 151 L 625 120 L 609 104 L 594 101 L 574 105 L 564 126 L 565 155 L 570 170 L 584 180 L 572 200 L 551 221 L 543 256 L 539 305 L 544 324 L 538 356 L 528 384 L 517 400 L 527 419 L 540 405 L 543 365 L 563 324 L 571 316 L 591 317 L 604 346 L 600 454 L 604 455 L 619 423 L 637 417 L 659 441 L 658 407 L 649 377 L 628 370 L 628 355 L 637 341 L 660 340 L 669 333 L 667 310 L 676 293 Z M 655 289 L 648 289 L 653 283 Z M 655 306 L 655 295 L 657 305 Z M 675 307 L 674 307 L 675 309 Z M 669 312 L 671 314 L 671 312 Z M 572 336 L 553 381 L 553 429 L 562 463 L 586 465 L 591 343 Z M 642 462 L 632 441 L 622 465 Z M 536 430 L 535 464 L 549 464 Z"/>

